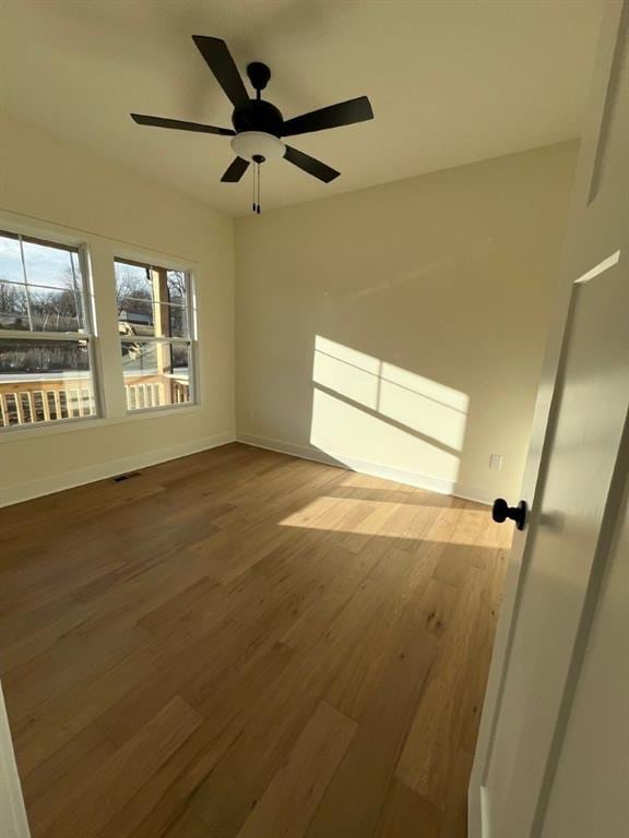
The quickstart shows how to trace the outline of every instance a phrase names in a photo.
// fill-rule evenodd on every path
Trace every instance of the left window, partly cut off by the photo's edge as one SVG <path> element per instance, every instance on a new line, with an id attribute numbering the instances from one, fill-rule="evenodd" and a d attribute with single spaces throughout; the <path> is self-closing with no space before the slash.
<path id="1" fill-rule="evenodd" d="M 0 231 L 0 428 L 97 414 L 79 248 Z"/>

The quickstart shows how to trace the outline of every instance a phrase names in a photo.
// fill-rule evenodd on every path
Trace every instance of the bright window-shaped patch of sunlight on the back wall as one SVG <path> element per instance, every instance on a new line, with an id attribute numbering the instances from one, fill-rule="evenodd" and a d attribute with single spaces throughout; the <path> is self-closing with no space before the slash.
<path id="1" fill-rule="evenodd" d="M 452 490 L 470 399 L 411 370 L 314 338 L 310 443 L 348 468 L 381 465 Z M 378 452 L 385 459 L 378 460 Z"/>

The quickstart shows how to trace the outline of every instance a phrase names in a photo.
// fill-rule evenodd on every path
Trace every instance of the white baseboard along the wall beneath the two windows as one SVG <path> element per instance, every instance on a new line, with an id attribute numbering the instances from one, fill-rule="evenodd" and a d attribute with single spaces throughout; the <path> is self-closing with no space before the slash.
<path id="1" fill-rule="evenodd" d="M 236 436 L 233 432 L 225 431 L 212 436 L 203 436 L 199 440 L 171 445 L 167 448 L 157 448 L 156 451 L 149 451 L 130 457 L 110 459 L 107 463 L 81 468 L 78 471 L 68 471 L 52 477 L 44 477 L 39 480 L 31 480 L 27 483 L 17 483 L 2 490 L 0 493 L 0 507 L 22 503 L 22 501 L 29 501 L 33 498 L 40 498 L 54 492 L 62 492 L 64 489 L 73 489 L 76 486 L 93 483 L 96 480 L 105 480 L 108 477 L 115 477 L 124 471 L 134 471 L 139 468 L 155 466 L 157 463 L 166 463 L 169 459 L 185 457 L 188 454 L 197 454 L 199 451 L 226 445 L 235 440 Z"/>

